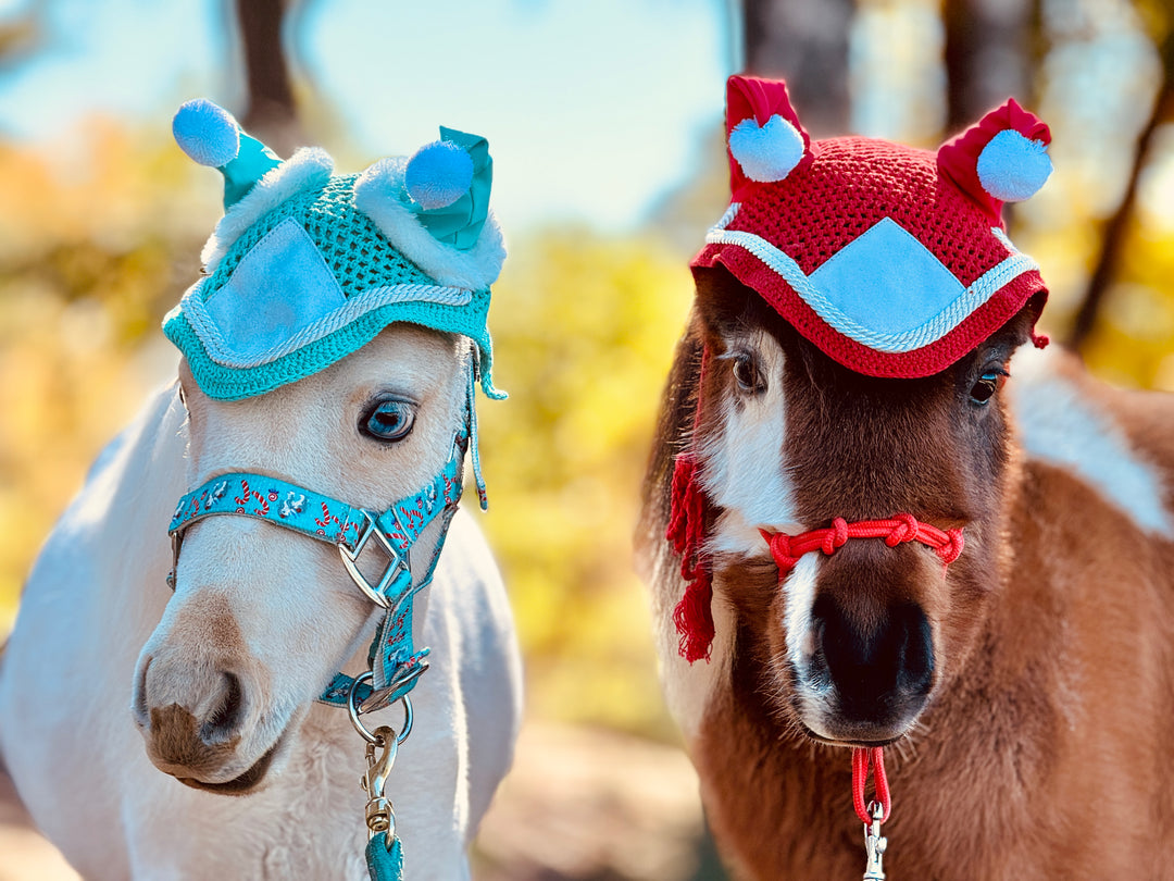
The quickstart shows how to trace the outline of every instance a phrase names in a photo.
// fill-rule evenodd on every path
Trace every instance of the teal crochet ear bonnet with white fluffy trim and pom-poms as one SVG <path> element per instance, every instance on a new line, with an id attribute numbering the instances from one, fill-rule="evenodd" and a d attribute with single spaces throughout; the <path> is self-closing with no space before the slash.
<path id="1" fill-rule="evenodd" d="M 393 322 L 463 334 L 492 398 L 490 285 L 505 260 L 485 139 L 440 129 L 411 159 L 333 175 L 319 148 L 282 161 L 210 101 L 175 140 L 224 175 L 204 276 L 163 321 L 205 395 L 262 395 L 333 364 Z"/>

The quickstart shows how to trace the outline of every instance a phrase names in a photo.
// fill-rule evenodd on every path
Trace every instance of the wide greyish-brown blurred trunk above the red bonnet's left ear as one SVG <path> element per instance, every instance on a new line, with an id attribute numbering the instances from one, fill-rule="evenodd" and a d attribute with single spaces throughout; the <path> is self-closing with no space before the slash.
<path id="1" fill-rule="evenodd" d="M 747 73 L 782 76 L 814 135 L 848 130 L 853 0 L 742 0 Z"/>

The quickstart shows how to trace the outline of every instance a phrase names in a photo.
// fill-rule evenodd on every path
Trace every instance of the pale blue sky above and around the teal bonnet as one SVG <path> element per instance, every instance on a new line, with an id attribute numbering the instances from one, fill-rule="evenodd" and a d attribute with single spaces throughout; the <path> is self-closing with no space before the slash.
<path id="1" fill-rule="evenodd" d="M 0 0 L 0 19 L 26 6 Z M 93 113 L 166 130 L 195 95 L 238 107 L 228 8 L 50 0 L 43 49 L 0 72 L 0 136 L 60 142 Z M 342 129 L 328 147 L 367 161 L 413 152 L 438 125 L 475 132 L 507 229 L 622 230 L 687 179 L 718 123 L 729 16 L 728 0 L 311 0 L 294 52 Z"/>

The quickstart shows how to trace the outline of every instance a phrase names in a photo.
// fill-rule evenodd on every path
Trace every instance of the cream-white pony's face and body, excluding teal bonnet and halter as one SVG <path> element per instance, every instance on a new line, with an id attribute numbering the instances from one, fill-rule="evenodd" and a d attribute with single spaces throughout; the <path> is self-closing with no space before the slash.
<path id="1" fill-rule="evenodd" d="M 245 517 L 187 531 L 173 596 L 166 533 L 176 499 L 228 472 L 370 510 L 417 491 L 464 425 L 471 357 L 463 336 L 397 323 L 238 402 L 204 396 L 183 362 L 101 455 L 41 552 L 0 668 L 0 755 L 87 879 L 366 876 L 364 745 L 345 709 L 315 699 L 336 671 L 365 670 L 383 610 L 336 549 Z M 389 395 L 414 419 L 398 443 L 363 431 Z M 441 529 L 413 556 L 431 559 Z M 468 876 L 520 717 L 510 608 L 466 515 L 416 601 L 431 670 L 387 792 L 409 876 L 448 881 Z M 399 728 L 403 709 L 370 719 Z"/>

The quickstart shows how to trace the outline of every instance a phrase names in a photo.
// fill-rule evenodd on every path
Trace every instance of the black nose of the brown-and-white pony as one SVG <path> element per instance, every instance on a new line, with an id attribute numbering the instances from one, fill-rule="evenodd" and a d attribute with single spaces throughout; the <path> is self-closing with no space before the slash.
<path id="1" fill-rule="evenodd" d="M 919 606 L 891 606 L 868 626 L 824 594 L 811 624 L 810 674 L 834 686 L 842 721 L 884 727 L 920 709 L 933 680 L 933 638 Z"/>

